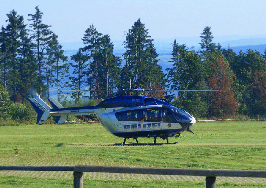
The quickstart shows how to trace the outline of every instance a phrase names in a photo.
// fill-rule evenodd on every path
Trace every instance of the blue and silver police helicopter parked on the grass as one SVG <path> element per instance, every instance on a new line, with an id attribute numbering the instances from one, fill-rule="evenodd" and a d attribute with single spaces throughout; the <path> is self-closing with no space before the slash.
<path id="1" fill-rule="evenodd" d="M 37 112 L 37 124 L 45 123 L 49 116 L 56 116 L 56 123 L 64 123 L 70 114 L 95 114 L 107 131 L 124 138 L 123 145 L 129 138 L 139 144 L 139 137 L 154 138 L 153 144 L 157 138 L 166 139 L 169 144 L 168 137 L 179 137 L 184 131 L 193 133 L 190 130 L 196 122 L 193 115 L 165 100 L 139 95 L 144 89 L 135 87 L 133 91 L 134 96 L 115 96 L 85 107 L 64 108 L 51 98 L 48 99 L 51 108 L 38 94 L 29 101 Z"/>

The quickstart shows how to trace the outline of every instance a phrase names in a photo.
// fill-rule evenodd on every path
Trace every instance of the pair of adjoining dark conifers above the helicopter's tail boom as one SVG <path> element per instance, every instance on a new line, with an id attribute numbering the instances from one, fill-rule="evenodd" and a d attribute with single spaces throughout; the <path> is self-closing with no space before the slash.
<path id="1" fill-rule="evenodd" d="M 87 53 L 90 60 L 88 72 L 88 84 L 90 89 L 106 89 L 104 92 L 96 92 L 96 98 L 109 98 L 110 89 L 116 88 L 117 75 L 119 75 L 121 62 L 114 56 L 114 45 L 109 35 L 99 33 L 93 25 L 86 31 L 82 39 L 85 47 L 83 52 Z M 91 92 L 91 98 L 92 98 Z"/>

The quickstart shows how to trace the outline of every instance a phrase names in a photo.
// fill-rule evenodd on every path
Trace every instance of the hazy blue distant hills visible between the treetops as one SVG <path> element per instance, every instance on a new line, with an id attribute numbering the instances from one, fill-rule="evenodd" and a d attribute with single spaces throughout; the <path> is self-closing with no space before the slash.
<path id="1" fill-rule="evenodd" d="M 179 45 L 185 44 L 187 48 L 193 48 L 195 51 L 200 49 L 200 37 L 177 37 L 171 39 L 154 39 L 153 44 L 156 48 L 157 53 L 159 54 L 171 54 L 172 45 L 174 40 Z M 116 55 L 123 54 L 125 48 L 123 46 L 123 40 L 112 41 L 114 44 L 114 53 Z M 247 49 L 257 50 L 261 54 L 264 53 L 266 45 L 266 35 L 254 35 L 254 36 L 239 36 L 239 35 L 230 35 L 230 36 L 218 36 L 213 38 L 213 42 L 220 44 L 222 48 L 228 49 L 231 48 L 235 53 L 238 54 L 240 50 L 246 52 Z M 82 41 L 74 43 L 61 43 L 63 50 L 67 51 L 67 55 L 73 55 L 72 52 L 78 51 L 79 48 L 84 47 Z M 74 54 L 75 54 L 74 53 Z"/>

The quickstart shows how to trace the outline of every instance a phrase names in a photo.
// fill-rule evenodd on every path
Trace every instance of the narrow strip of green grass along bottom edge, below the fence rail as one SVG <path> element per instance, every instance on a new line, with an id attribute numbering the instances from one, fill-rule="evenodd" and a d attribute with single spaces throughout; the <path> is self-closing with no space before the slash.
<path id="1" fill-rule="evenodd" d="M 50 178 L 22 178 L 16 176 L 0 177 L 1 185 L 0 187 L 40 187 L 40 188 L 50 188 L 50 187 L 73 187 L 72 179 L 50 179 Z M 248 187 L 265 187 L 263 184 L 236 184 L 236 183 L 216 183 L 216 187 L 238 187 L 248 188 Z M 205 188 L 205 182 L 172 182 L 164 180 L 153 180 L 153 181 L 139 181 L 139 180 L 84 180 L 83 187 L 125 187 L 125 188 L 137 188 L 137 187 L 160 187 L 160 188 L 171 188 L 171 187 L 197 187 Z"/>

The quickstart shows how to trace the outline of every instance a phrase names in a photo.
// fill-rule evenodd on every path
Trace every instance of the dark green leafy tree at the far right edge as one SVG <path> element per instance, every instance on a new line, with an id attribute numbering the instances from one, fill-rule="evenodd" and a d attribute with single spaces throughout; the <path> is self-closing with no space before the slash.
<path id="1" fill-rule="evenodd" d="M 261 91 L 265 93 L 263 83 L 266 79 L 263 75 L 266 72 L 266 60 L 257 51 L 240 51 L 233 71 L 238 80 L 238 90 L 241 92 L 239 112 L 249 117 L 265 116 L 265 106 L 258 104 L 264 98 L 261 97 Z"/>

